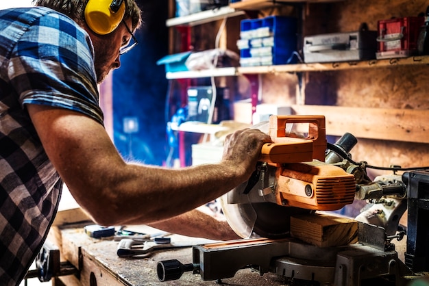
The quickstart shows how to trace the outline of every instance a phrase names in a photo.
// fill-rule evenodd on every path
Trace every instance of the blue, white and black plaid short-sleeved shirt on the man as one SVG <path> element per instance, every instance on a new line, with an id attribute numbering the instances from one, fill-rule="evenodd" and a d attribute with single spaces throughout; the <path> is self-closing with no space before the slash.
<path id="1" fill-rule="evenodd" d="M 17 285 L 42 247 L 62 181 L 26 104 L 81 112 L 103 124 L 88 34 L 47 8 L 0 11 L 0 285 Z"/>

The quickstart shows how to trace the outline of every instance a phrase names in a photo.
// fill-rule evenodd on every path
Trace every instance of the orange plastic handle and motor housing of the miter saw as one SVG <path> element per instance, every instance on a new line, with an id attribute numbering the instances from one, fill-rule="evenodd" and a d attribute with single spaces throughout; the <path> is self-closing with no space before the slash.
<path id="1" fill-rule="evenodd" d="M 308 123 L 306 138 L 289 138 L 289 134 L 295 135 L 286 132 L 289 123 Z M 324 116 L 271 116 L 269 135 L 274 146 L 262 147 L 260 160 L 277 166 L 275 197 L 278 205 L 334 211 L 353 203 L 354 176 L 323 163 L 326 151 Z M 282 148 L 284 152 L 280 152 Z M 291 164 L 297 162 L 307 163 Z"/>

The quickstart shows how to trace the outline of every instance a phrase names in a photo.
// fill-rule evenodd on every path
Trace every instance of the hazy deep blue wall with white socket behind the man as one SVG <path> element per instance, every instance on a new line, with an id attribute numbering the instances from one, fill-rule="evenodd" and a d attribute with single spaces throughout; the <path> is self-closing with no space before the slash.
<path id="1" fill-rule="evenodd" d="M 139 44 L 121 56 L 112 78 L 114 144 L 125 159 L 162 166 L 167 157 L 167 79 L 156 61 L 168 53 L 167 0 L 137 1 L 144 25 Z"/>

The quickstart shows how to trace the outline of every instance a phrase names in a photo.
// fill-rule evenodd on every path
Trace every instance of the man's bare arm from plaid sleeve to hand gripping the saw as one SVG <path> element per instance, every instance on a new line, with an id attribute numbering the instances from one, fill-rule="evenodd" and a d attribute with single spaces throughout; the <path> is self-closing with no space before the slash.
<path id="1" fill-rule="evenodd" d="M 77 203 L 104 225 L 166 220 L 218 198 L 252 174 L 268 135 L 247 129 L 225 142 L 219 164 L 167 169 L 127 164 L 105 129 L 77 112 L 27 105 L 40 140 Z"/>

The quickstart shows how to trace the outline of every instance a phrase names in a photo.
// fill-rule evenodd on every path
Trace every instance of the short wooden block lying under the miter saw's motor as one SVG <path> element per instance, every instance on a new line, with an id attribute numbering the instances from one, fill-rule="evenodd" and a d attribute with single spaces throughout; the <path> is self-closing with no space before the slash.
<path id="1" fill-rule="evenodd" d="M 326 213 L 292 216 L 291 235 L 319 247 L 343 246 L 358 242 L 358 222 Z"/>

